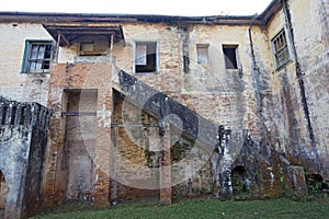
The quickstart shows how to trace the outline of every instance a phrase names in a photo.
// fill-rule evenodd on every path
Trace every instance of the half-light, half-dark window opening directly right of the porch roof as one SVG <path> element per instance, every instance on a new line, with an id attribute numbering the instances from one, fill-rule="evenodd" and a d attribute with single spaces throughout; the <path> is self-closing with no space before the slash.
<path id="1" fill-rule="evenodd" d="M 135 45 L 135 73 L 158 71 L 157 42 L 137 42 Z"/>

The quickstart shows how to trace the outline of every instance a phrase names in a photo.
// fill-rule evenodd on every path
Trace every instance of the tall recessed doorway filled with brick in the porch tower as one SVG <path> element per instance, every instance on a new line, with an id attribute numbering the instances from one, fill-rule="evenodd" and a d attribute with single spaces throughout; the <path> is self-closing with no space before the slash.
<path id="1" fill-rule="evenodd" d="M 65 91 L 67 199 L 89 201 L 93 193 L 98 91 Z"/>

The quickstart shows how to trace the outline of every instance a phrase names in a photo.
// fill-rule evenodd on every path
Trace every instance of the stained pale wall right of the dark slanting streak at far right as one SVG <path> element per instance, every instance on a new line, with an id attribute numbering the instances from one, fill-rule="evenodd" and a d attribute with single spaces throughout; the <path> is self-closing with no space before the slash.
<path id="1" fill-rule="evenodd" d="M 313 161 L 308 162 L 308 170 L 311 172 L 313 166 L 319 164 L 315 171 L 329 181 L 329 7 L 328 1 L 307 1 L 304 7 L 300 8 L 296 0 L 290 2 L 297 58 L 315 138 L 310 154 L 318 154 L 309 155 Z"/>

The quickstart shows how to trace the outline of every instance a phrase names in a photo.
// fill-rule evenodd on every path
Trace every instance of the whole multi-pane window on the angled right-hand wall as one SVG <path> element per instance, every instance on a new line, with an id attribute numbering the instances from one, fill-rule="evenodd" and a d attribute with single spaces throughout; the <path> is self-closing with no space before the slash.
<path id="1" fill-rule="evenodd" d="M 290 60 L 290 53 L 286 43 L 285 31 L 282 30 L 273 39 L 272 39 L 272 49 L 275 60 L 275 68 L 279 69 L 283 67 Z"/>

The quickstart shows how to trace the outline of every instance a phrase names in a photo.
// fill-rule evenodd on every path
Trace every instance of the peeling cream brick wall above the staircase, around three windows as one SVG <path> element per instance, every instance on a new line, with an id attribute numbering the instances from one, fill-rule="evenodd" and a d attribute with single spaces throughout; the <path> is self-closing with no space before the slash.
<path id="1" fill-rule="evenodd" d="M 114 47 L 115 66 L 132 72 L 134 42 L 158 41 L 159 72 L 134 74 L 136 78 L 177 99 L 215 124 L 236 129 L 248 128 L 257 136 L 258 119 L 254 113 L 248 27 L 217 25 L 188 27 L 189 37 L 184 41 L 189 44 L 190 72 L 184 73 L 183 42 L 178 25 L 126 24 L 124 25 L 126 47 Z M 209 44 L 211 65 L 196 64 L 196 44 Z M 222 44 L 238 45 L 239 70 L 225 69 Z"/>

